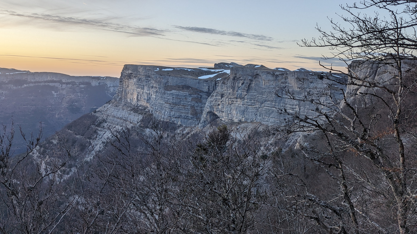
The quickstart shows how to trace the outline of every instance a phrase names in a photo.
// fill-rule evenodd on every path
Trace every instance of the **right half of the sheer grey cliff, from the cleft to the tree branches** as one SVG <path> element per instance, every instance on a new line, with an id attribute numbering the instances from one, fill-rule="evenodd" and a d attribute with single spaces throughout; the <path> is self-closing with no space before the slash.
<path id="1" fill-rule="evenodd" d="M 214 118 L 275 125 L 286 118 L 278 114 L 278 107 L 309 115 L 314 108 L 310 102 L 283 99 L 276 92 L 289 90 L 296 98 L 302 99 L 308 93 L 326 91 L 340 98 L 340 85 L 327 79 L 319 79 L 321 75 L 309 71 L 280 72 L 233 67 L 230 78 L 221 80 L 209 97 L 199 127 L 203 128 Z"/>

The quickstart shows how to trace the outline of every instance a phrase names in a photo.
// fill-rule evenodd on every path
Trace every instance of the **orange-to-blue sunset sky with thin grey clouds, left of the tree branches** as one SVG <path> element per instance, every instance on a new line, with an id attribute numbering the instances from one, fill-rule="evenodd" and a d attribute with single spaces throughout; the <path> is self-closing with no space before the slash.
<path id="1" fill-rule="evenodd" d="M 0 67 L 119 77 L 124 64 L 323 70 L 299 47 L 352 0 L 0 0 Z"/>

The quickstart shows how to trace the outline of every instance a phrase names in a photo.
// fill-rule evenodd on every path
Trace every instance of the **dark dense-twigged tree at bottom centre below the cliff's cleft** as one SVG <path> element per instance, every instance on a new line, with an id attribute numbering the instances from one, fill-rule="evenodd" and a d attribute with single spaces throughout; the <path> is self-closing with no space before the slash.
<path id="1" fill-rule="evenodd" d="M 186 183 L 178 201 L 194 233 L 250 233 L 263 223 L 269 198 L 269 158 L 259 142 L 239 142 L 220 126 L 197 145 L 183 167 Z"/>

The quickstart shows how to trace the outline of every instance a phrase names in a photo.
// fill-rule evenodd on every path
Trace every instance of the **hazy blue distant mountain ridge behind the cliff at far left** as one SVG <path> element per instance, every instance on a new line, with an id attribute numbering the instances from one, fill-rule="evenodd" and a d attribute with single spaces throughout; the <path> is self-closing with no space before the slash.
<path id="1" fill-rule="evenodd" d="M 10 126 L 13 118 L 15 127 L 20 125 L 29 134 L 37 133 L 42 122 L 43 136 L 48 137 L 111 100 L 118 83 L 109 76 L 0 68 L 0 123 Z M 21 153 L 25 144 L 18 134 L 15 139 L 15 153 Z"/>

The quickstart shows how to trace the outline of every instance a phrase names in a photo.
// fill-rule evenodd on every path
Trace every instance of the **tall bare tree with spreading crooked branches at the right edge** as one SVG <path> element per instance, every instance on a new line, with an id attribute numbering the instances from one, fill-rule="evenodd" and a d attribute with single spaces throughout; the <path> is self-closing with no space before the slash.
<path id="1" fill-rule="evenodd" d="M 333 57 L 349 65 L 348 79 L 321 75 L 347 88 L 335 99 L 330 90 L 294 96 L 291 90 L 276 95 L 310 101 L 312 116 L 284 107 L 287 133 L 320 132 L 321 148 L 299 146 L 300 153 L 321 167 L 340 188 L 333 197 L 314 196 L 305 190 L 301 203 L 314 204 L 326 214 L 310 213 L 326 232 L 410 233 L 415 230 L 415 121 L 416 71 L 414 50 L 417 37 L 416 1 L 364 0 L 342 6 L 347 24 L 331 20 L 332 30 L 318 39 L 303 40 L 308 47 L 329 47 Z M 362 14 L 367 9 L 374 15 Z M 381 15 L 380 15 L 381 14 Z M 332 67 L 326 67 L 332 71 Z M 326 180 L 328 181 L 328 180 Z M 300 186 L 309 186 L 300 182 Z M 294 198 L 295 199 L 295 198 Z M 293 201 L 300 202 L 300 201 Z M 370 209 L 370 207 L 373 207 Z M 314 207 L 307 211 L 313 212 Z M 317 211 L 317 209 L 316 209 Z M 326 219 L 332 213 L 339 220 Z M 396 215 L 390 215 L 392 212 Z M 304 213 L 305 214 L 305 213 Z M 349 217 L 346 219 L 346 217 Z M 387 225 L 389 219 L 396 227 Z M 349 222 L 347 222 L 349 220 Z M 337 230 L 332 227 L 337 227 Z"/>

